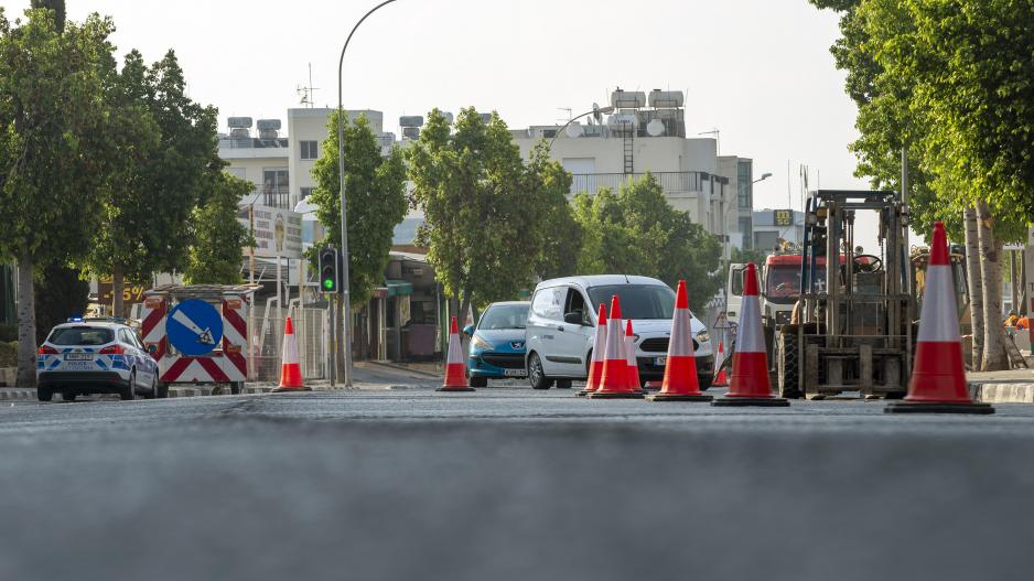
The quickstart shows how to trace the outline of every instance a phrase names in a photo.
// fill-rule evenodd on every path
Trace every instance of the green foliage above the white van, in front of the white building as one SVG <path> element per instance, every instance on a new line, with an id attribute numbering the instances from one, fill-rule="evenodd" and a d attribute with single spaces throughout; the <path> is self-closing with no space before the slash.
<path id="1" fill-rule="evenodd" d="M 686 280 L 690 305 L 701 309 L 721 288 L 721 245 L 689 216 L 674 209 L 647 173 L 614 195 L 601 190 L 574 198 L 584 238 L 581 275 L 642 275 L 670 286 Z"/>

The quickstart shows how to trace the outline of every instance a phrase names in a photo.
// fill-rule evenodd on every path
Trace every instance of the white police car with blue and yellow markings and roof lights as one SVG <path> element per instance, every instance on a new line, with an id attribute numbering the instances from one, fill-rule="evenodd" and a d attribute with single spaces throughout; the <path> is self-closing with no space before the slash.
<path id="1" fill-rule="evenodd" d="M 51 330 L 36 357 L 36 395 L 72 401 L 78 395 L 168 397 L 158 363 L 125 319 L 69 319 Z"/>

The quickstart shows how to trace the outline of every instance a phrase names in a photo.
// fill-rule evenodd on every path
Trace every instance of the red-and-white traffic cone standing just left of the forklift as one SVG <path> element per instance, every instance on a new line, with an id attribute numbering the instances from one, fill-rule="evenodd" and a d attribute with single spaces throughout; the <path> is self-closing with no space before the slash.
<path id="1" fill-rule="evenodd" d="M 712 406 L 789 406 L 789 401 L 772 395 L 768 379 L 768 356 L 765 333 L 761 326 L 761 302 L 757 298 L 757 267 L 753 262 L 743 271 L 743 302 L 740 308 L 740 332 L 732 356 L 732 379 L 725 397 Z"/>

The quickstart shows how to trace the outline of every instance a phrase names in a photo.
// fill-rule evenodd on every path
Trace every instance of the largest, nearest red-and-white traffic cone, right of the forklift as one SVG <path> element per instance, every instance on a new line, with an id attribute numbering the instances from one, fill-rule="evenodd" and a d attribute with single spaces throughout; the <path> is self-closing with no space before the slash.
<path id="1" fill-rule="evenodd" d="M 934 244 L 926 267 L 926 290 L 919 314 L 916 357 L 904 400 L 892 401 L 887 413 L 994 413 L 969 395 L 962 367 L 962 337 L 948 262 L 945 225 L 934 224 Z"/>

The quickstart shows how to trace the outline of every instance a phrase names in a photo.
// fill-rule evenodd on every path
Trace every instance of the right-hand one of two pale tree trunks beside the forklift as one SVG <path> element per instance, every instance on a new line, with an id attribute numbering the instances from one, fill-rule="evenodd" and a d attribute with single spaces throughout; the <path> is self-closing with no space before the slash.
<path id="1" fill-rule="evenodd" d="M 980 275 L 983 279 L 983 372 L 1009 369 L 1002 324 L 1002 245 L 994 238 L 994 218 L 985 203 L 977 204 Z"/>

